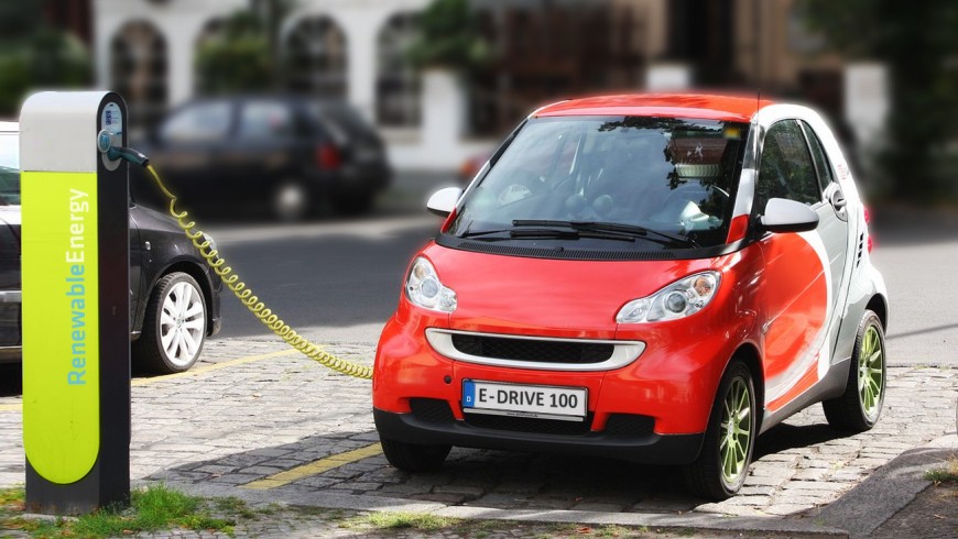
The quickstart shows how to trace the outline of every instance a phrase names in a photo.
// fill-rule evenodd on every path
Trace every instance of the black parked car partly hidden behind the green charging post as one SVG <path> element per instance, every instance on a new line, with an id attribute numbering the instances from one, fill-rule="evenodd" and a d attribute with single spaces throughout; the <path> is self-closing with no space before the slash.
<path id="1" fill-rule="evenodd" d="M 18 124 L 0 122 L 0 362 L 17 363 L 22 360 L 19 145 Z M 135 204 L 130 205 L 130 287 L 134 364 L 160 373 L 188 370 L 206 338 L 219 331 L 222 283 L 173 218 Z"/>

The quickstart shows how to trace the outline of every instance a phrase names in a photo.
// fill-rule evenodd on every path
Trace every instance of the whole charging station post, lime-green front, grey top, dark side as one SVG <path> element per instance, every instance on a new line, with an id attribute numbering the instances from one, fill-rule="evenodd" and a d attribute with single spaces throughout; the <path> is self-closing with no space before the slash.
<path id="1" fill-rule="evenodd" d="M 26 508 L 130 499 L 127 108 L 41 92 L 20 114 Z"/>

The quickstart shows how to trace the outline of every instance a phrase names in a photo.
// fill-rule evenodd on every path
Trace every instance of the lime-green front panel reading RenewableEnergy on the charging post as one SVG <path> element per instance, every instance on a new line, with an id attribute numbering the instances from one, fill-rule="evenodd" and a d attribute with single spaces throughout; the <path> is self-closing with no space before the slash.
<path id="1" fill-rule="evenodd" d="M 22 185 L 23 228 L 32 237 L 21 264 L 30 299 L 23 447 L 37 473 L 68 484 L 86 476 L 99 453 L 97 175 L 24 172 Z"/>

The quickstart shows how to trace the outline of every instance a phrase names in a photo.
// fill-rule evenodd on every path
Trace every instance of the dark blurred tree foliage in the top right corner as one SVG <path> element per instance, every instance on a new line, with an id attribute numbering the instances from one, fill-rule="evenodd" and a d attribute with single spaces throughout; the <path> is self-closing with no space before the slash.
<path id="1" fill-rule="evenodd" d="M 832 47 L 889 67 L 890 144 L 880 168 L 889 175 L 890 195 L 958 197 L 958 2 L 802 1 L 809 25 Z"/>

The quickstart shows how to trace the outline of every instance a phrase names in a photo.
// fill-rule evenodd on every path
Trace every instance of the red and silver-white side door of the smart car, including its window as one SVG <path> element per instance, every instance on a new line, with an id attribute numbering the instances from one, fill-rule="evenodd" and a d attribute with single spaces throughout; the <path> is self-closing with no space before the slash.
<path id="1" fill-rule="evenodd" d="M 764 260 L 760 285 L 766 405 L 777 409 L 817 382 L 830 364 L 828 328 L 845 267 L 847 224 L 825 200 L 819 170 L 802 124 L 782 120 L 763 140 L 755 208 L 771 198 L 808 205 L 815 230 L 766 233 L 759 239 Z"/>

